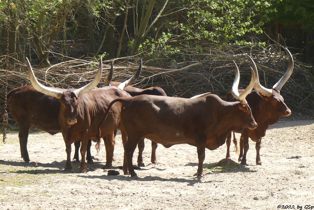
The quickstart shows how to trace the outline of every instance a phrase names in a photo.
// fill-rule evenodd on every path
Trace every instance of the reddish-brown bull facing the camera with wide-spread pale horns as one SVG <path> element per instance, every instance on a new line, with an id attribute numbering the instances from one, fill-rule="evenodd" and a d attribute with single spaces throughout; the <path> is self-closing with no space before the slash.
<path id="1" fill-rule="evenodd" d="M 58 119 L 61 126 L 64 142 L 66 144 L 67 162 L 65 170 L 71 170 L 71 144 L 75 141 L 81 141 L 80 149 L 82 161 L 80 170 L 82 173 L 87 171 L 85 163 L 85 154 L 87 150 L 88 140 L 95 140 L 97 133 L 97 125 L 100 123 L 100 116 L 105 113 L 109 102 L 117 97 L 127 98 L 131 97 L 127 92 L 120 88 L 109 86 L 104 88 L 93 89 L 101 79 L 102 61 L 100 60 L 100 67 L 95 76 L 95 79 L 88 85 L 77 90 L 59 91 L 50 87 L 41 85 L 32 71 L 30 63 L 29 66 L 30 81 L 37 91 L 47 95 L 56 97 L 61 103 Z M 141 65 L 140 65 L 141 68 Z M 126 86 L 133 82 L 133 78 L 122 83 Z M 124 88 L 124 87 L 123 87 Z M 107 141 L 111 142 L 108 146 L 114 145 L 114 131 L 120 128 L 119 112 L 121 105 L 115 106 L 111 109 L 109 118 L 101 126 L 102 136 L 106 136 Z M 122 129 L 120 129 L 122 130 Z M 122 130 L 122 139 L 126 138 Z M 113 151 L 113 148 L 109 148 Z M 106 154 L 106 165 L 111 165 L 112 154 Z"/>

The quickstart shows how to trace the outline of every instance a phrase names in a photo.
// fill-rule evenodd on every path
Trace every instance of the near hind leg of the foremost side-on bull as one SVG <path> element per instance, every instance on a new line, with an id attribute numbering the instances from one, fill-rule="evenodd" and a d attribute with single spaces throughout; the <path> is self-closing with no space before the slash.
<path id="1" fill-rule="evenodd" d="M 141 137 L 128 135 L 127 136 L 127 142 L 124 146 L 124 156 L 126 157 L 128 172 L 131 176 L 137 176 L 137 174 L 134 171 L 132 158 L 133 158 L 133 153 L 134 153 L 134 150 L 136 148 L 136 145 L 138 144 L 138 141 L 140 139 L 141 139 Z M 125 163 L 123 163 L 123 166 L 124 165 L 125 165 Z M 123 172 L 125 175 L 127 175 L 126 174 L 127 171 L 125 170 L 125 168 L 123 169 Z"/>

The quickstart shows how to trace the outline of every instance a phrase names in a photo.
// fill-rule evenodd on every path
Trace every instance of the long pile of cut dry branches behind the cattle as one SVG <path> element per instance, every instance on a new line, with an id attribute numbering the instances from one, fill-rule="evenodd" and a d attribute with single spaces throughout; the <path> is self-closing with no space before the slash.
<path id="1" fill-rule="evenodd" d="M 162 87 L 168 96 L 191 97 L 193 95 L 212 92 L 225 98 L 235 76 L 235 67 L 232 60 L 240 69 L 240 86 L 245 88 L 250 79 L 250 55 L 259 71 L 260 83 L 267 88 L 272 86 L 285 73 L 289 64 L 289 58 L 285 50 L 279 45 L 260 46 L 228 46 L 217 50 L 203 48 L 203 52 L 197 53 L 189 49 L 181 49 L 181 53 L 193 55 L 193 61 L 164 64 L 162 68 L 151 67 L 143 61 L 142 73 L 133 84 L 139 88 L 151 86 Z M 294 114 L 314 114 L 314 67 L 298 61 L 298 54 L 294 54 L 294 71 L 283 86 L 281 95 L 292 109 Z M 4 59 L 4 58 L 0 58 Z M 198 62 L 201 62 L 198 63 Z M 113 81 L 125 81 L 138 69 L 139 59 L 136 57 L 118 58 L 114 60 Z M 35 76 L 39 82 L 46 86 L 60 88 L 78 88 L 94 79 L 99 63 L 95 59 L 70 59 L 50 67 L 39 68 L 33 66 Z M 191 66 L 190 66 L 191 65 Z M 189 68 L 185 68 L 189 66 Z M 103 84 L 110 69 L 110 60 L 103 61 L 103 78 L 99 86 Z M 5 68 L 0 66 L 0 81 L 5 84 Z M 8 91 L 23 85 L 29 85 L 27 66 L 16 61 L 14 66 L 8 69 Z M 2 111 L 4 102 L 4 87 L 0 89 L 0 103 Z"/>

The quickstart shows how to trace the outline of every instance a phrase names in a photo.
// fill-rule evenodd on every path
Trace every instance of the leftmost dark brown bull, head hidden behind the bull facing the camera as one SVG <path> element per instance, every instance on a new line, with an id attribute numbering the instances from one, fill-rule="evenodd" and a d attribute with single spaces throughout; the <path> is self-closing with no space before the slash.
<path id="1" fill-rule="evenodd" d="M 111 66 L 111 71 L 105 84 L 107 83 L 109 85 L 112 74 L 113 66 Z M 55 89 L 66 91 L 66 89 Z M 32 85 L 14 88 L 8 93 L 7 98 L 10 100 L 10 112 L 19 125 L 21 157 L 25 162 L 30 162 L 27 151 L 30 127 L 34 126 L 51 135 L 61 132 L 58 120 L 60 101 L 55 97 L 37 91 Z M 91 142 L 89 143 L 91 145 Z M 87 150 L 87 160 L 88 162 L 93 161 L 91 159 L 90 150 Z"/>

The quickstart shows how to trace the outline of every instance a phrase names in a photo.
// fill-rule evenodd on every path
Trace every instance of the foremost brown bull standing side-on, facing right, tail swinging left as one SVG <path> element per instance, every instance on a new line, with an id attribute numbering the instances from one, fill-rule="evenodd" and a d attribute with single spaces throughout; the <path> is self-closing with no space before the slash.
<path id="1" fill-rule="evenodd" d="M 205 147 L 217 149 L 225 143 L 231 130 L 255 129 L 257 126 L 245 100 L 246 95 L 253 89 L 254 73 L 252 72 L 249 86 L 239 94 L 239 71 L 236 72 L 232 90 L 240 102 L 225 102 L 214 94 L 193 99 L 140 95 L 113 100 L 108 106 L 104 120 L 111 106 L 119 102 L 122 105 L 121 124 L 127 133 L 124 174 L 130 172 L 131 176 L 136 176 L 132 164 L 133 152 L 138 141 L 147 138 L 166 148 L 175 144 L 196 146 L 198 152 L 196 175 L 203 178 Z M 100 134 L 102 135 L 101 130 L 97 134 L 98 142 Z"/>

